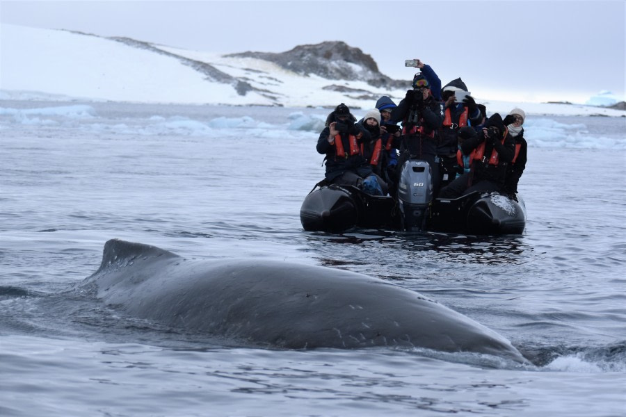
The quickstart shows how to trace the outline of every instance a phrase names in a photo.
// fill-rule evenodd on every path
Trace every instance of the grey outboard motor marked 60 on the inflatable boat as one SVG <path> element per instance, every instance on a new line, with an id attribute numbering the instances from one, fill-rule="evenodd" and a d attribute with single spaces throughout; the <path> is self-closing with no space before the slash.
<path id="1" fill-rule="evenodd" d="M 433 174 L 426 161 L 404 163 L 398 183 L 398 202 L 403 230 L 422 231 L 433 201 Z"/>

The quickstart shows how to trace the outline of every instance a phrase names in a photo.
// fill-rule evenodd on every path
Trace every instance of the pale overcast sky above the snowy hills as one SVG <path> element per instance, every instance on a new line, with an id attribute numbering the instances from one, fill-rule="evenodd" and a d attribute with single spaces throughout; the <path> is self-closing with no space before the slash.
<path id="1" fill-rule="evenodd" d="M 626 1 L 24 1 L 0 22 L 128 36 L 197 51 L 287 51 L 343 40 L 394 79 L 420 58 L 476 97 L 625 97 Z M 1 43 L 0 43 L 1 59 Z"/>

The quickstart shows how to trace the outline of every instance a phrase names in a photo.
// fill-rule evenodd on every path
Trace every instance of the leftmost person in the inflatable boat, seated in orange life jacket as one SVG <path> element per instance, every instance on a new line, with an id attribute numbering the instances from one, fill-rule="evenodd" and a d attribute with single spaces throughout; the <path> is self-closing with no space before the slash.
<path id="1" fill-rule="evenodd" d="M 376 181 L 371 165 L 361 152 L 361 143 L 370 140 L 370 133 L 355 121 L 344 103 L 326 117 L 326 126 L 319 134 L 316 149 L 320 154 L 326 154 L 327 183 L 362 188 L 365 179 L 371 177 L 369 183 Z M 374 186 L 378 186 L 378 181 Z M 380 186 L 374 188 L 374 193 L 382 193 Z"/>

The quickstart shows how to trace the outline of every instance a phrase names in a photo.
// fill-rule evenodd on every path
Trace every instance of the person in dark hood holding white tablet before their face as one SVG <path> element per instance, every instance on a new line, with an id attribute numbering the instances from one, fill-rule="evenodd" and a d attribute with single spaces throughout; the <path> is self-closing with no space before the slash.
<path id="1" fill-rule="evenodd" d="M 441 90 L 444 106 L 444 121 L 438 130 L 437 155 L 440 158 L 442 187 L 456 177 L 457 136 L 465 126 L 479 125 L 483 117 L 467 85 L 460 78 L 444 85 Z"/>

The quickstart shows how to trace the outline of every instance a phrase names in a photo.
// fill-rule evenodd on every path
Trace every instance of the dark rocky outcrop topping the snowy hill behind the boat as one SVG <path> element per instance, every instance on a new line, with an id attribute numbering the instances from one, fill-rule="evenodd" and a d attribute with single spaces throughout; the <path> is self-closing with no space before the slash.
<path id="1" fill-rule="evenodd" d="M 393 80 L 381 74 L 374 58 L 345 42 L 298 45 L 278 54 L 248 51 L 226 56 L 267 60 L 303 76 L 314 74 L 329 80 L 365 81 L 374 87 L 406 88 L 409 85 L 406 80 Z"/>

